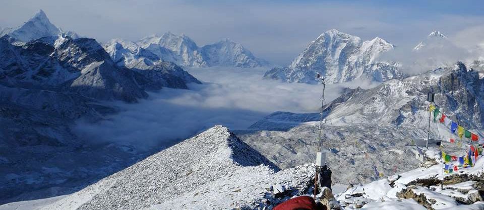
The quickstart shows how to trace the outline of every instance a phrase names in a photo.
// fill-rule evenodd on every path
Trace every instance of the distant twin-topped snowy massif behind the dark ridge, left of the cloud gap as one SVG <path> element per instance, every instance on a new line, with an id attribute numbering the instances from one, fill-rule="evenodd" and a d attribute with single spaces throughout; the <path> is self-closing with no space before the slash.
<path id="1" fill-rule="evenodd" d="M 256 58 L 241 44 L 229 39 L 204 45 L 202 47 L 187 35 L 175 35 L 170 32 L 163 35 L 151 35 L 136 42 L 113 39 L 106 43 L 105 49 L 112 54 L 113 45 L 120 44 L 127 49 L 141 49 L 158 60 L 174 62 L 187 67 L 228 66 L 254 68 L 267 66 L 267 61 Z M 130 61 L 131 62 L 131 61 Z"/>

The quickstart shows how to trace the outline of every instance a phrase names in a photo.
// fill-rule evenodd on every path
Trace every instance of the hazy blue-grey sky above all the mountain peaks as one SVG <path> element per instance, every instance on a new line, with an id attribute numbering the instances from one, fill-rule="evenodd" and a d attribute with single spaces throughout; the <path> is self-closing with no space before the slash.
<path id="1" fill-rule="evenodd" d="M 106 41 L 171 31 L 204 45 L 230 38 L 256 56 L 288 64 L 324 31 L 364 40 L 382 37 L 413 47 L 433 30 L 471 46 L 484 33 L 480 1 L 3 1 L 0 26 L 16 26 L 37 10 L 55 25 Z M 484 38 L 482 38 L 484 40 Z"/>

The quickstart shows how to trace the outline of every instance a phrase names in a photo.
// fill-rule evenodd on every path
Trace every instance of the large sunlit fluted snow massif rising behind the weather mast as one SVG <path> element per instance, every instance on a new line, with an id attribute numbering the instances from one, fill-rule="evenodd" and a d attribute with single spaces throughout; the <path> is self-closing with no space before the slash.
<path id="1" fill-rule="evenodd" d="M 317 73 L 325 76 L 327 83 L 352 81 L 360 77 L 385 81 L 403 76 L 397 64 L 378 61 L 381 54 L 394 46 L 376 37 L 361 41 L 359 37 L 330 30 L 323 33 L 299 54 L 289 66 L 273 68 L 265 78 L 287 82 L 317 83 Z"/>

